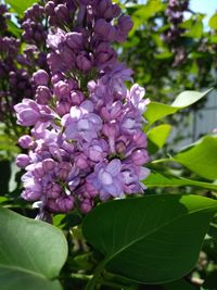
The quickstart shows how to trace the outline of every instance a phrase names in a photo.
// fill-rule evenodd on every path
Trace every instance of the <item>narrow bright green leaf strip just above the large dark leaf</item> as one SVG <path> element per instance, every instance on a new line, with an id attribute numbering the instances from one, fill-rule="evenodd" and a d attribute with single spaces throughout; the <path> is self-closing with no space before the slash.
<path id="1" fill-rule="evenodd" d="M 148 188 L 191 186 L 217 191 L 217 185 L 215 184 L 202 182 L 182 177 L 177 178 L 175 176 L 168 176 L 153 172 L 146 177 L 144 185 Z"/>

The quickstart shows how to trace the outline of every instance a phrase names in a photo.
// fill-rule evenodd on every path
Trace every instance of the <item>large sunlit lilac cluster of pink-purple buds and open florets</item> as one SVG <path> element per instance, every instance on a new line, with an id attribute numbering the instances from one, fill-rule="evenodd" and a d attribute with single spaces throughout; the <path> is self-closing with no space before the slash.
<path id="1" fill-rule="evenodd" d="M 46 5 L 52 22 L 52 11 L 67 8 L 67 1 L 56 2 Z M 74 209 L 87 213 L 99 200 L 142 193 L 149 174 L 142 131 L 149 101 L 139 85 L 127 89 L 132 72 L 111 47 L 126 39 L 131 20 L 110 0 L 75 3 L 71 31 L 59 27 L 48 36 L 50 76 L 36 72 L 35 101 L 14 108 L 17 123 L 33 126 L 18 140 L 28 150 L 16 159 L 26 169 L 22 197 L 39 202 L 43 217 Z"/>

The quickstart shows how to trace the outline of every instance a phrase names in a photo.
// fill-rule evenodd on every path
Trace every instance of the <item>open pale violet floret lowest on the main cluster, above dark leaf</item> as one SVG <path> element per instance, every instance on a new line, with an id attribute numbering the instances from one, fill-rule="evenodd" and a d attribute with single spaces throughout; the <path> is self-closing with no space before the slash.
<path id="1" fill-rule="evenodd" d="M 100 193 L 101 200 L 107 200 L 111 197 L 123 198 L 124 180 L 120 171 L 122 163 L 117 159 L 108 164 L 99 163 L 94 167 L 94 173 L 88 176 L 87 182 Z"/>

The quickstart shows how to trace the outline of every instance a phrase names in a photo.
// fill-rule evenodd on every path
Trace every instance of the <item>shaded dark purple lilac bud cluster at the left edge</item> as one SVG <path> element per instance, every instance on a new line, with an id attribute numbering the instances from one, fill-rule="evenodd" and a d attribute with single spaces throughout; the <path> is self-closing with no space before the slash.
<path id="1" fill-rule="evenodd" d="M 25 53 L 20 54 L 20 49 L 21 42 L 16 38 L 0 36 L 0 113 L 4 121 L 14 104 L 34 94 L 29 60 Z"/>

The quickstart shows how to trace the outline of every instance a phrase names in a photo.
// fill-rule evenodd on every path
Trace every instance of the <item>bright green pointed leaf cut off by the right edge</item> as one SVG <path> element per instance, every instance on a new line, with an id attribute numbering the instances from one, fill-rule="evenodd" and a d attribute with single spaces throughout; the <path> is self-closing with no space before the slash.
<path id="1" fill-rule="evenodd" d="M 217 179 L 217 136 L 205 136 L 174 156 L 174 161 L 184 165 L 197 175 Z"/>

